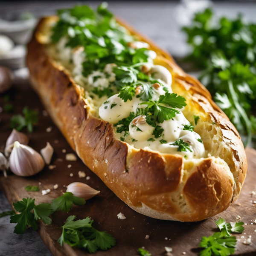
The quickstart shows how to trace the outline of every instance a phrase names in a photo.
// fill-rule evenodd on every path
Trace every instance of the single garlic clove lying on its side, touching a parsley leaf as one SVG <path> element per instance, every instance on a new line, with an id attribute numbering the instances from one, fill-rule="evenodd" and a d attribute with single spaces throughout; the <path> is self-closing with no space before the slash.
<path id="1" fill-rule="evenodd" d="M 67 186 L 67 192 L 72 192 L 73 195 L 84 198 L 84 200 L 88 200 L 99 194 L 98 190 L 81 182 L 73 182 L 69 184 Z"/>

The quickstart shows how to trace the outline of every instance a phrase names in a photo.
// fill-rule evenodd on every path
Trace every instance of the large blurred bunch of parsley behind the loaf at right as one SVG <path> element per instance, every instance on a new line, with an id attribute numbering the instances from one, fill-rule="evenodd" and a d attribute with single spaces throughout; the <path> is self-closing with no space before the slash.
<path id="1" fill-rule="evenodd" d="M 185 60 L 205 69 L 199 80 L 239 132 L 245 145 L 256 137 L 256 24 L 222 17 L 212 22 L 206 9 L 195 15 L 192 26 L 183 27 L 193 51 Z"/>

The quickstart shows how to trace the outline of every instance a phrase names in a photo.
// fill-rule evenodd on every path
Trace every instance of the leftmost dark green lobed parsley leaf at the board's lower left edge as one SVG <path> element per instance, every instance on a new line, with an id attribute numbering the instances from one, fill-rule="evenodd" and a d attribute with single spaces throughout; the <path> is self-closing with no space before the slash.
<path id="1" fill-rule="evenodd" d="M 38 224 L 35 221 L 35 216 L 30 212 L 35 207 L 35 199 L 23 198 L 22 201 L 13 203 L 13 207 L 20 214 L 11 216 L 10 223 L 17 223 L 14 228 L 14 233 L 22 234 L 26 231 L 26 227 L 32 227 L 37 230 Z"/>

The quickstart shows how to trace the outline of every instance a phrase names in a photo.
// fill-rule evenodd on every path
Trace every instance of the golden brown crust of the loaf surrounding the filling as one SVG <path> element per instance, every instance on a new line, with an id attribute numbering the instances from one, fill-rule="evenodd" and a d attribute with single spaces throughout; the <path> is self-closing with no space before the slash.
<path id="1" fill-rule="evenodd" d="M 111 123 L 92 116 L 82 90 L 63 67 L 58 66 L 40 40 L 49 18 L 40 21 L 28 45 L 27 64 L 33 88 L 55 124 L 81 160 L 126 204 L 154 218 L 199 221 L 227 209 L 241 190 L 247 171 L 244 147 L 236 128 L 212 101 L 208 90 L 186 75 L 172 57 L 151 45 L 158 61 L 168 67 L 177 89 L 190 93 L 190 102 L 214 120 L 223 134 L 225 157 L 186 161 L 179 155 L 136 150 L 116 138 Z M 210 131 L 209 131 L 210 133 Z"/>

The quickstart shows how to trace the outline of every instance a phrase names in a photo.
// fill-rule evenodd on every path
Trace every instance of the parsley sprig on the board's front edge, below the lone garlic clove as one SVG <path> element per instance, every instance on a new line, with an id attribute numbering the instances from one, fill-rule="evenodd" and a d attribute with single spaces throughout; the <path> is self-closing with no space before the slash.
<path id="1" fill-rule="evenodd" d="M 58 239 L 61 246 L 66 243 L 72 247 L 87 249 L 89 253 L 95 253 L 98 249 L 108 250 L 116 245 L 116 239 L 113 236 L 92 227 L 93 220 L 89 217 L 74 221 L 75 218 L 75 215 L 69 216 L 61 227 L 62 234 Z"/>

